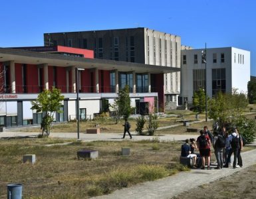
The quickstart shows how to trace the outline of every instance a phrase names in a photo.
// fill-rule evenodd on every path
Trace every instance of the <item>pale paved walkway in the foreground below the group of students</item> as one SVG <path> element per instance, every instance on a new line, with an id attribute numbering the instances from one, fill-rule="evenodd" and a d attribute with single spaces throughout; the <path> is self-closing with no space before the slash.
<path id="1" fill-rule="evenodd" d="M 256 164 L 256 149 L 241 154 L 243 168 Z M 130 188 L 116 190 L 112 194 L 96 197 L 98 199 L 116 198 L 172 198 L 199 185 L 206 184 L 229 176 L 243 168 L 223 168 L 221 170 L 193 169 L 190 172 L 179 172 L 173 176 L 151 182 L 137 184 Z"/>

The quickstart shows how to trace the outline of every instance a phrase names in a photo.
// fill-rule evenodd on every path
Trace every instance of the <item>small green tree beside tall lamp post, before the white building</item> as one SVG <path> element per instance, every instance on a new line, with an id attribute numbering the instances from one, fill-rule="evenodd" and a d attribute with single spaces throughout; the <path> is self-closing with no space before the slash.
<path id="1" fill-rule="evenodd" d="M 193 106 L 196 113 L 205 111 L 205 91 L 201 88 L 193 93 Z"/>

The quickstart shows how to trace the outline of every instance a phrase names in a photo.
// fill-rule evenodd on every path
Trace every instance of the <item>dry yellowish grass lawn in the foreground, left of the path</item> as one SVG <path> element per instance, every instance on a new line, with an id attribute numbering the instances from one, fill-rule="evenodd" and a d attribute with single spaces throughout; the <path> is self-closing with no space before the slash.
<path id="1" fill-rule="evenodd" d="M 70 145 L 55 139 L 0 140 L 0 198 L 6 198 L 7 184 L 23 184 L 23 198 L 88 198 L 138 182 L 156 180 L 188 168 L 178 164 L 179 142 L 97 141 Z M 121 147 L 131 155 L 122 157 Z M 98 150 L 99 158 L 78 160 L 79 149 Z M 22 163 L 23 155 L 35 154 L 36 163 Z"/>

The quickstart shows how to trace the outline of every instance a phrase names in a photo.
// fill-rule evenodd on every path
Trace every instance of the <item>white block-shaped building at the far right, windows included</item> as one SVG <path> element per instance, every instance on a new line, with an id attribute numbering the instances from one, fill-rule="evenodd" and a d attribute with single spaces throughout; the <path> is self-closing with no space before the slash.
<path id="1" fill-rule="evenodd" d="M 182 50 L 182 87 L 180 103 L 192 103 L 193 92 L 205 89 L 205 62 L 202 50 Z M 247 92 L 250 80 L 250 52 L 239 48 L 206 49 L 206 88 L 212 98 L 217 92 Z"/>

